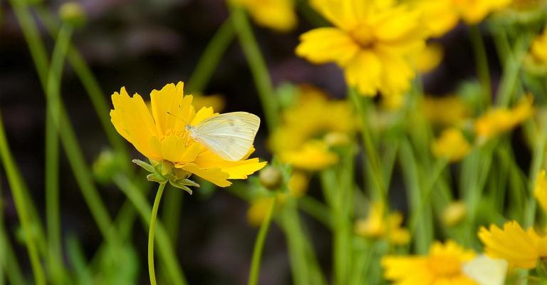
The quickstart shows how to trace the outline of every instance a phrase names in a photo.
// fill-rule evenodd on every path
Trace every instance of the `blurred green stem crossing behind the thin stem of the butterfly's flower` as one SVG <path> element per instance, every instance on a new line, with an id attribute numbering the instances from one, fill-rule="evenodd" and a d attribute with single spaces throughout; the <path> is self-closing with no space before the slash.
<path id="1" fill-rule="evenodd" d="M 137 209 L 137 212 L 139 212 L 145 227 L 149 228 L 152 217 L 152 209 L 150 209 L 150 204 L 148 204 L 139 188 L 125 175 L 115 176 L 114 183 L 118 186 L 118 188 L 120 188 L 120 190 L 122 190 L 125 196 L 130 199 L 131 203 Z M 174 250 L 169 240 L 169 235 L 167 235 L 167 231 L 160 221 L 156 222 L 155 232 L 155 239 L 159 249 L 160 258 L 162 259 L 162 263 L 165 265 L 166 271 L 171 278 L 170 284 L 187 284 L 184 279 L 184 275 L 182 274 L 182 269 L 180 269 L 179 262 L 177 261 L 177 257 L 174 255 Z"/>

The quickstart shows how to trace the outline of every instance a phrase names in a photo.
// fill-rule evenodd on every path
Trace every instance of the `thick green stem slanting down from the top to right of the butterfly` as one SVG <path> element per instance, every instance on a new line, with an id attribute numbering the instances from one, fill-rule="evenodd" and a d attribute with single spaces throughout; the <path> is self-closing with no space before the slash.
<path id="1" fill-rule="evenodd" d="M 266 62 L 262 57 L 259 44 L 256 42 L 256 38 L 254 38 L 251 24 L 245 11 L 241 7 L 231 6 L 230 14 L 232 24 L 234 24 L 234 29 L 239 37 L 239 43 L 241 43 L 241 48 L 243 48 L 243 52 L 251 68 L 264 115 L 266 115 L 266 123 L 270 131 L 275 130 L 278 124 L 278 102 L 274 97 L 275 92 L 273 91 Z"/>

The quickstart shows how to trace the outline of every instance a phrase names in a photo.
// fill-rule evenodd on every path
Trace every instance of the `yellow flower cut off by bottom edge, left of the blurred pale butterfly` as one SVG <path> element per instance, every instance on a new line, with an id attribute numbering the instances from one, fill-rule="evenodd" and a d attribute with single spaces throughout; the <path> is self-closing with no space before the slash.
<path id="1" fill-rule="evenodd" d="M 384 277 L 399 285 L 472 285 L 475 281 L 462 271 L 465 262 L 472 260 L 475 253 L 466 250 L 453 241 L 445 244 L 435 242 L 427 256 L 382 258 Z"/>

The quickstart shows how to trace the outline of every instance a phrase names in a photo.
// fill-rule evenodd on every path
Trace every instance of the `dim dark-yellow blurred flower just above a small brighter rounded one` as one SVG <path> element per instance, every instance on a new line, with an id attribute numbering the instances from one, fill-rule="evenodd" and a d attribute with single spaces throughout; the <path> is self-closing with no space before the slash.
<path id="1" fill-rule="evenodd" d="M 425 96 L 423 110 L 429 123 L 437 126 L 460 125 L 471 113 L 469 106 L 457 95 Z"/>

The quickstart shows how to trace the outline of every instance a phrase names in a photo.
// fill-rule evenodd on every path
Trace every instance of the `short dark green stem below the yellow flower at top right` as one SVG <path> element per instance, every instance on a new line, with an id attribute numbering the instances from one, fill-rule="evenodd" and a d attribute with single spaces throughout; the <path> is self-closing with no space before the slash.
<path id="1" fill-rule="evenodd" d="M 484 92 L 483 108 L 491 105 L 491 82 L 490 71 L 488 66 L 488 57 L 486 56 L 486 48 L 484 47 L 484 41 L 482 39 L 481 31 L 478 26 L 469 27 L 469 36 L 473 46 L 475 54 L 476 74 L 479 76 L 479 81 Z"/>

